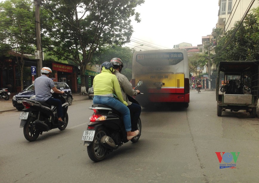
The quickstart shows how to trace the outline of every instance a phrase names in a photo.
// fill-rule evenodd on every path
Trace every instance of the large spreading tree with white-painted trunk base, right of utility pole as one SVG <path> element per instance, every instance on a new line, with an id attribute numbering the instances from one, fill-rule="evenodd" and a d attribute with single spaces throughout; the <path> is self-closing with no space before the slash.
<path id="1" fill-rule="evenodd" d="M 42 3 L 51 16 L 42 18 L 42 42 L 48 51 L 80 66 L 81 94 L 86 93 L 85 69 L 105 45 L 130 42 L 131 17 L 140 21 L 135 7 L 144 0 L 53 0 Z"/>

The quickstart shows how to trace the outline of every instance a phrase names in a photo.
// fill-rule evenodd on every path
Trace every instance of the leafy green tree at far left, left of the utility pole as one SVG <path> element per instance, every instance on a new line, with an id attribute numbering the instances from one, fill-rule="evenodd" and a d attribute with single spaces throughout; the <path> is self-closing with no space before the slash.
<path id="1" fill-rule="evenodd" d="M 35 46 L 35 15 L 30 0 L 7 0 L 0 3 L 0 46 L 17 53 L 16 61 L 23 90 L 24 54 Z M 2 49 L 4 50 L 4 48 Z"/>

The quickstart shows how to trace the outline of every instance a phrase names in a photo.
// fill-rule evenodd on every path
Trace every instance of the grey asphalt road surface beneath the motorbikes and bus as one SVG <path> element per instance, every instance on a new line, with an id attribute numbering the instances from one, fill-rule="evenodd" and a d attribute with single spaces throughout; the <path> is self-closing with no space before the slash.
<path id="1" fill-rule="evenodd" d="M 223 112 L 218 117 L 214 92 L 191 91 L 190 98 L 189 108 L 144 108 L 138 143 L 124 144 L 99 163 L 89 159 L 81 141 L 92 114 L 90 100 L 69 106 L 66 130 L 44 132 L 34 142 L 28 142 L 19 128 L 19 111 L 1 113 L 0 180 L 258 182 L 258 118 L 243 112 Z M 240 152 L 236 163 L 230 162 L 235 168 L 220 169 L 215 152 Z"/>

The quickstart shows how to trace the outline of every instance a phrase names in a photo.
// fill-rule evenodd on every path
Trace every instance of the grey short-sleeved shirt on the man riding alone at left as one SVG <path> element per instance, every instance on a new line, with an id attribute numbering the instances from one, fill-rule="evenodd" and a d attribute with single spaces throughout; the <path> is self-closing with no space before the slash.
<path id="1" fill-rule="evenodd" d="M 34 86 L 36 100 L 45 102 L 51 97 L 50 90 L 55 86 L 55 84 L 52 79 L 46 75 L 42 75 L 35 79 Z"/>

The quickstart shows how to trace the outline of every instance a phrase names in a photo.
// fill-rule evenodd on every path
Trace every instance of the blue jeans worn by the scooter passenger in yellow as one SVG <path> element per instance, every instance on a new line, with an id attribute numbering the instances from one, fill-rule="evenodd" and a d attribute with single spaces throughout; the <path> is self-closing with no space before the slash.
<path id="1" fill-rule="evenodd" d="M 95 95 L 92 101 L 93 104 L 107 105 L 119 111 L 123 116 L 123 122 L 126 132 L 131 131 L 129 108 L 121 101 L 115 99 L 114 97 L 104 97 L 100 95 Z"/>

